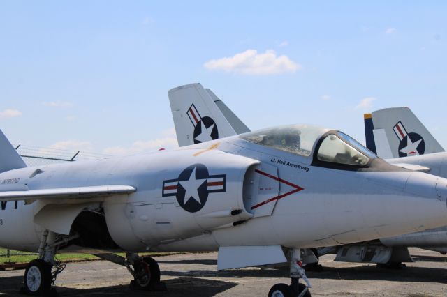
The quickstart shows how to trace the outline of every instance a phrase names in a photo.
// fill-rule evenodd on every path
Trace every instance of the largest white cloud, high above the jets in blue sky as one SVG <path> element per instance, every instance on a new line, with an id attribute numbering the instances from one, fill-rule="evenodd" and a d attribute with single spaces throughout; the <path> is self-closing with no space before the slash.
<path id="1" fill-rule="evenodd" d="M 286 55 L 277 56 L 274 50 L 267 50 L 263 54 L 258 54 L 257 50 L 246 50 L 234 56 L 207 61 L 204 66 L 208 70 L 223 70 L 245 75 L 294 73 L 302 68 Z"/>

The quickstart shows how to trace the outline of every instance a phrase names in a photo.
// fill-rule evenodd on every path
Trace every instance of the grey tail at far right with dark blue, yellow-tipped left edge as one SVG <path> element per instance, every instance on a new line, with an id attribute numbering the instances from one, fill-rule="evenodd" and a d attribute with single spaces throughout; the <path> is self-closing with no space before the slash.
<path id="1" fill-rule="evenodd" d="M 365 138 L 367 148 L 384 159 L 444 151 L 408 107 L 365 114 Z"/>

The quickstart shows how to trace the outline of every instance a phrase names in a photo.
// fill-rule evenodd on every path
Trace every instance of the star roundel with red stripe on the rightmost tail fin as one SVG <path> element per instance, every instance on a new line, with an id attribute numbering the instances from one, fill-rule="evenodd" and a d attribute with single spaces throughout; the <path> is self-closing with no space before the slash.
<path id="1" fill-rule="evenodd" d="M 401 121 L 393 127 L 393 130 L 399 139 L 399 157 L 406 157 L 409 155 L 423 155 L 425 153 L 425 142 L 422 136 L 414 132 L 406 132 L 406 129 Z"/>

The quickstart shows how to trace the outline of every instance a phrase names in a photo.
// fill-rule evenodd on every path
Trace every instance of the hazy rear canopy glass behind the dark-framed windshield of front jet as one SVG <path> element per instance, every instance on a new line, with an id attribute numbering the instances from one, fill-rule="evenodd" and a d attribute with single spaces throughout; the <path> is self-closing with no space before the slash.
<path id="1" fill-rule="evenodd" d="M 314 125 L 285 125 L 241 135 L 249 142 L 309 157 L 314 144 L 328 129 Z"/>

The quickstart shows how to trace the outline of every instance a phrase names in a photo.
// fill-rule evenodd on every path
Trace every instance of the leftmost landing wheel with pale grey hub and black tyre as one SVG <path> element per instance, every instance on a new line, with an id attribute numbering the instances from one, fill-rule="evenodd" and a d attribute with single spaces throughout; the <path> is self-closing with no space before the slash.
<path id="1" fill-rule="evenodd" d="M 24 275 L 24 291 L 29 295 L 42 295 L 50 291 L 51 265 L 36 259 L 29 262 Z"/>

